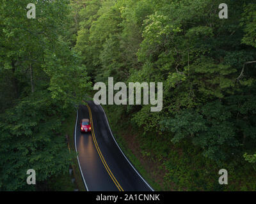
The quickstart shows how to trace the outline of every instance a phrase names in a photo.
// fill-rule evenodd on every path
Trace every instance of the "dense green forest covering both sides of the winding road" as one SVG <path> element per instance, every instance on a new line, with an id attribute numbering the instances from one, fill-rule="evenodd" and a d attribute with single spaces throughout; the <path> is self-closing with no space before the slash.
<path id="1" fill-rule="evenodd" d="M 228 19 L 219 0 L 0 2 L 1 191 L 44 189 L 67 171 L 63 122 L 108 77 L 163 82 L 161 112 L 105 106 L 154 189 L 256 190 L 253 0 L 225 1 Z M 24 182 L 28 166 L 40 172 L 36 188 Z"/>

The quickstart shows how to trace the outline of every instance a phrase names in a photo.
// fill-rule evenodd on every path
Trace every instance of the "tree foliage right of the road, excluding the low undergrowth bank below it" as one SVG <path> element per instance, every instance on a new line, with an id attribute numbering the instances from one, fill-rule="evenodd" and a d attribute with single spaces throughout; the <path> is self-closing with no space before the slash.
<path id="1" fill-rule="evenodd" d="M 76 49 L 96 81 L 163 82 L 162 112 L 116 107 L 114 120 L 127 117 L 144 135 L 161 137 L 152 144 L 141 136 L 148 149 L 163 139 L 241 166 L 256 158 L 256 9 L 252 0 L 227 0 L 228 19 L 220 19 L 221 3 L 102 1 L 93 21 L 81 19 Z"/>

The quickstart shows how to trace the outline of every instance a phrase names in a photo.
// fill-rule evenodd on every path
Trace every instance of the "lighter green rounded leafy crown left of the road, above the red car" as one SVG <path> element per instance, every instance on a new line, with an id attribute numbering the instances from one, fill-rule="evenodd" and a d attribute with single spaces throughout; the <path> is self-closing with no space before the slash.
<path id="1" fill-rule="evenodd" d="M 59 44 L 60 50 L 45 54 L 45 73 L 51 78 L 49 91 L 52 98 L 62 100 L 65 107 L 81 103 L 86 92 L 91 90 L 90 78 L 81 66 L 79 55 L 70 51 L 65 43 Z"/>

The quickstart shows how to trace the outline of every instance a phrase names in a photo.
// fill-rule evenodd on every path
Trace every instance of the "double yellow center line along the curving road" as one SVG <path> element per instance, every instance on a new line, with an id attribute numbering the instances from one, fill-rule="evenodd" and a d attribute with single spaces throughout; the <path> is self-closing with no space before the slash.
<path id="1" fill-rule="evenodd" d="M 93 142 L 94 142 L 94 145 L 97 149 L 97 152 L 100 156 L 100 159 L 102 161 L 102 163 L 104 164 L 104 167 L 106 168 L 106 170 L 108 171 L 108 174 L 109 176 L 111 177 L 111 179 L 113 180 L 113 182 L 115 183 L 116 187 L 118 188 L 119 191 L 124 191 L 124 189 L 122 189 L 122 187 L 120 186 L 120 184 L 118 183 L 118 181 L 116 180 L 116 178 L 114 177 L 113 173 L 111 172 L 111 170 L 109 169 L 108 167 L 108 164 L 106 163 L 101 151 L 100 151 L 100 148 L 99 148 L 99 145 L 97 143 L 97 140 L 96 140 L 96 137 L 95 137 L 95 133 L 94 133 L 94 129 L 93 129 L 93 121 L 92 121 L 92 111 L 91 111 L 91 108 L 90 106 L 88 106 L 86 104 L 88 110 L 89 110 L 89 114 L 90 114 L 90 122 L 91 122 L 91 126 L 92 126 L 92 138 L 93 138 Z"/>

